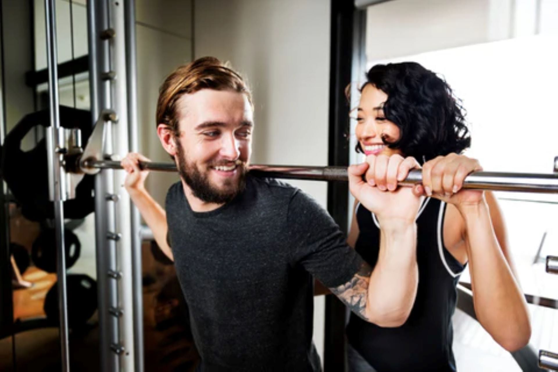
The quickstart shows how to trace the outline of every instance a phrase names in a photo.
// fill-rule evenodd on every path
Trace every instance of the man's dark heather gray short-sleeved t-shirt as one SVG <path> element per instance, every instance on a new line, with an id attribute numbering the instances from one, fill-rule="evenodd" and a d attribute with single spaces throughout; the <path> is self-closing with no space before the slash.
<path id="1" fill-rule="evenodd" d="M 176 273 L 204 371 L 319 371 L 312 345 L 313 279 L 348 282 L 363 261 L 304 192 L 247 177 L 210 212 L 182 184 L 166 199 Z"/>

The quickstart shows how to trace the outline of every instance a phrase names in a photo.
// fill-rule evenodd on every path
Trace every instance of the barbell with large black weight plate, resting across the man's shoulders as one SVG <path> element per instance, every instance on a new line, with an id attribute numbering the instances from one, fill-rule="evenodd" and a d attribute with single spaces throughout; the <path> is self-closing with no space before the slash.
<path id="1" fill-rule="evenodd" d="M 4 139 L 2 149 L 2 173 L 15 199 L 20 202 L 26 218 L 36 221 L 54 218 L 52 202 L 47 187 L 46 148 L 44 141 L 37 143 L 31 151 L 21 151 L 23 137 L 37 126 L 47 125 L 48 111 L 27 115 L 12 129 Z M 116 114 L 103 112 L 93 131 L 88 122 L 90 113 L 73 108 L 60 107 L 60 121 L 66 131 L 81 132 L 79 144 L 68 143 L 61 149 L 64 156 L 66 173 L 85 173 L 85 177 L 75 187 L 75 198 L 64 202 L 64 215 L 67 218 L 83 218 L 94 210 L 93 176 L 102 169 L 121 169 L 120 162 L 100 160 L 104 157 L 105 122 L 116 122 Z M 79 137 L 79 136 L 78 136 Z M 81 149 L 81 142 L 86 142 Z M 64 150 L 64 151 L 62 151 Z M 558 160 L 556 161 L 558 163 Z M 140 162 L 140 167 L 150 171 L 176 172 L 173 163 Z M 556 167 L 558 170 L 558 167 Z M 286 178 L 315 181 L 347 181 L 347 168 L 340 166 L 272 166 L 251 165 L 253 175 L 271 178 Z M 401 185 L 421 183 L 422 174 L 412 170 Z M 511 173 L 511 172 L 473 172 L 465 178 L 464 189 L 494 191 L 519 191 L 556 194 L 558 193 L 558 172 L 555 173 Z M 68 189 L 73 189 L 69 187 Z"/>

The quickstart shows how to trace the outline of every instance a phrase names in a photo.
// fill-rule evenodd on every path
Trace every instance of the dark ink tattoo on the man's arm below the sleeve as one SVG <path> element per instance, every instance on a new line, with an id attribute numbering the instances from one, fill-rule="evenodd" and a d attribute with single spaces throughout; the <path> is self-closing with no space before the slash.
<path id="1" fill-rule="evenodd" d="M 367 263 L 363 263 L 350 281 L 341 284 L 339 287 L 329 288 L 352 312 L 366 321 L 368 321 L 366 316 L 366 302 L 368 299 L 368 283 L 370 282 L 371 273 L 372 268 Z"/>

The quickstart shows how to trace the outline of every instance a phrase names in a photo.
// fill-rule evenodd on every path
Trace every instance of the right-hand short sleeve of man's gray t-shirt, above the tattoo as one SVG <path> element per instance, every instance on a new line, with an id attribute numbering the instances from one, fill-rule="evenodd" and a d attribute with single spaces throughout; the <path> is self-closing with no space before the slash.
<path id="1" fill-rule="evenodd" d="M 287 235 L 292 264 L 302 265 L 326 287 L 347 283 L 363 264 L 328 212 L 300 190 L 288 206 Z"/>

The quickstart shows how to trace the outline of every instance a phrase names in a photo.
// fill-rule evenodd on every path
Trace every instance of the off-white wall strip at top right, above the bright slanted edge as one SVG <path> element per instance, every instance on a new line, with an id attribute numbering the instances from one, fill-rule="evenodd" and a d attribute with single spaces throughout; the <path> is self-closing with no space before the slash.
<path id="1" fill-rule="evenodd" d="M 558 29 L 557 14 L 555 0 L 392 0 L 367 9 L 367 57 L 383 60 L 548 33 Z"/>

